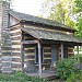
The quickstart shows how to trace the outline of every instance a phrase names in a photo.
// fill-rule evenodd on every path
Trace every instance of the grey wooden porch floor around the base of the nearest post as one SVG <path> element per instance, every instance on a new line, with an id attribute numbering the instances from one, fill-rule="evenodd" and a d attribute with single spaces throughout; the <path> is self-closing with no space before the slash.
<path id="1" fill-rule="evenodd" d="M 30 75 L 30 77 L 38 77 L 38 71 L 27 72 L 27 75 Z M 42 78 L 51 78 L 51 77 L 56 77 L 56 71 L 43 70 Z"/>

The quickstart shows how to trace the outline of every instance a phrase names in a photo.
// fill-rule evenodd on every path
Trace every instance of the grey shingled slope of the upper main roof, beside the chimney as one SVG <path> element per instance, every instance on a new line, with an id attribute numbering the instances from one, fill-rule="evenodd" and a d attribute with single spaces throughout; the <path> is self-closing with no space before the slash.
<path id="1" fill-rule="evenodd" d="M 66 25 L 63 25 L 59 22 L 43 19 L 43 17 L 33 16 L 33 15 L 25 14 L 25 13 L 20 13 L 20 12 L 13 11 L 13 10 L 10 10 L 9 14 L 11 14 L 12 16 L 16 17 L 20 21 L 34 22 L 34 23 L 39 23 L 39 24 L 43 24 L 43 25 L 46 24 L 46 25 L 50 25 L 50 26 L 54 26 L 54 27 L 57 26 L 57 27 L 62 27 L 62 28 L 75 31 L 75 30 L 72 30 L 71 27 L 66 26 Z"/>

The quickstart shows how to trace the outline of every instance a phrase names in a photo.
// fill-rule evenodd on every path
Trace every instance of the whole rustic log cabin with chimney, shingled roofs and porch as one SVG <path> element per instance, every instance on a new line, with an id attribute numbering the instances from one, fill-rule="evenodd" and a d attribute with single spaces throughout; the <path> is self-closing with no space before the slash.
<path id="1" fill-rule="evenodd" d="M 33 16 L 0 3 L 0 71 L 50 70 L 59 59 L 73 57 L 82 39 L 75 30 L 56 21 Z M 79 52 L 78 52 L 79 54 Z"/>

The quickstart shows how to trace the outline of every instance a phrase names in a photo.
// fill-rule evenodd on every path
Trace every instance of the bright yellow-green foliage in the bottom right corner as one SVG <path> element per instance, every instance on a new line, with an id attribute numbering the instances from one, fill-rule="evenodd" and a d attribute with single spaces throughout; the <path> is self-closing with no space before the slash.
<path id="1" fill-rule="evenodd" d="M 72 72 L 66 82 L 82 82 L 82 70 L 78 73 Z"/>

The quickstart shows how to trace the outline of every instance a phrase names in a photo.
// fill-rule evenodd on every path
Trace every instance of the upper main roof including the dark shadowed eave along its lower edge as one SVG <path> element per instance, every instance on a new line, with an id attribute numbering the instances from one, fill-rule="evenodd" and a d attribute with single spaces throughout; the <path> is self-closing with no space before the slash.
<path id="1" fill-rule="evenodd" d="M 17 19 L 21 23 L 31 23 L 31 24 L 36 24 L 36 25 L 43 25 L 43 26 L 48 26 L 48 27 L 54 27 L 57 30 L 63 30 L 63 31 L 70 31 L 70 32 L 75 32 L 75 30 L 61 24 L 59 22 L 52 21 L 52 20 L 47 20 L 47 19 L 43 19 L 43 17 L 37 17 L 37 16 L 33 16 L 30 14 L 25 14 L 25 13 L 20 13 L 13 10 L 9 10 L 9 14 L 14 16 L 15 19 Z"/>

